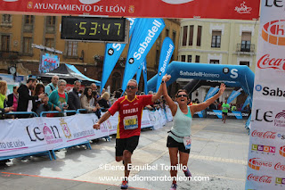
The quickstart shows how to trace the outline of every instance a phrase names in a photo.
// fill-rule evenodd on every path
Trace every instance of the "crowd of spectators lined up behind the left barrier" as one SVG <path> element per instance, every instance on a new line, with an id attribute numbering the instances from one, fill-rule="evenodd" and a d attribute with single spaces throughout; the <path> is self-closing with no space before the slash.
<path id="1" fill-rule="evenodd" d="M 74 87 L 68 92 L 67 82 L 58 76 L 53 76 L 51 83 L 37 82 L 36 78 L 28 78 L 26 84 L 13 87 L 13 92 L 7 95 L 7 83 L 0 80 L 0 118 L 4 119 L 7 112 L 41 112 L 58 111 L 61 113 L 48 113 L 46 117 L 62 116 L 63 111 L 94 112 L 100 118 L 101 112 L 107 111 L 121 95 L 123 90 L 118 89 L 113 94 L 102 89 L 98 92 L 96 84 L 81 88 L 81 81 L 74 82 Z M 82 88 L 81 88 L 82 89 Z M 83 111 L 83 112 L 84 112 Z M 68 112 L 68 115 L 75 114 Z M 7 117 L 7 116 L 6 116 Z M 17 118 L 29 118 L 30 114 L 15 114 Z"/>

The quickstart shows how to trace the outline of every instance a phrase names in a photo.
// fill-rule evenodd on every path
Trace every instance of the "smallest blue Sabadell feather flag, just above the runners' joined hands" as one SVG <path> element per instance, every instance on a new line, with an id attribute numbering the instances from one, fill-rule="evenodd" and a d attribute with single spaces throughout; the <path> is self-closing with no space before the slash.
<path id="1" fill-rule="evenodd" d="M 159 58 L 157 92 L 159 90 L 161 80 L 167 72 L 167 65 L 171 59 L 174 50 L 175 50 L 175 45 L 172 39 L 170 37 L 166 37 L 163 41 Z"/>

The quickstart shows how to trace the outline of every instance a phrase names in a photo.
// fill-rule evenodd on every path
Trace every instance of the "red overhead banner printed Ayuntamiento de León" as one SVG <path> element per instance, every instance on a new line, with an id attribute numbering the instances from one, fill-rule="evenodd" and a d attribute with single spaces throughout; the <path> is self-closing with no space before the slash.
<path id="1" fill-rule="evenodd" d="M 0 12 L 253 20 L 260 0 L 1 0 Z"/>

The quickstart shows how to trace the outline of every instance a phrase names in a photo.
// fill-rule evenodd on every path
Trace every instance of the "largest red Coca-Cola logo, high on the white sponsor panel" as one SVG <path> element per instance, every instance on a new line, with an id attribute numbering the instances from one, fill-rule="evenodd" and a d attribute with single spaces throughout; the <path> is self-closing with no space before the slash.
<path id="1" fill-rule="evenodd" d="M 270 54 L 265 54 L 258 60 L 257 67 L 259 69 L 273 69 L 285 71 L 285 59 L 272 58 L 270 57 Z"/>

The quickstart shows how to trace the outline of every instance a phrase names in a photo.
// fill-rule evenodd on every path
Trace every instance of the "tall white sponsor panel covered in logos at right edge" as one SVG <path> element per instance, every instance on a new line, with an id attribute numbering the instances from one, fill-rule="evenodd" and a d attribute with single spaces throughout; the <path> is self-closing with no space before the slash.
<path id="1" fill-rule="evenodd" d="M 263 0 L 246 189 L 285 188 L 284 2 Z"/>

